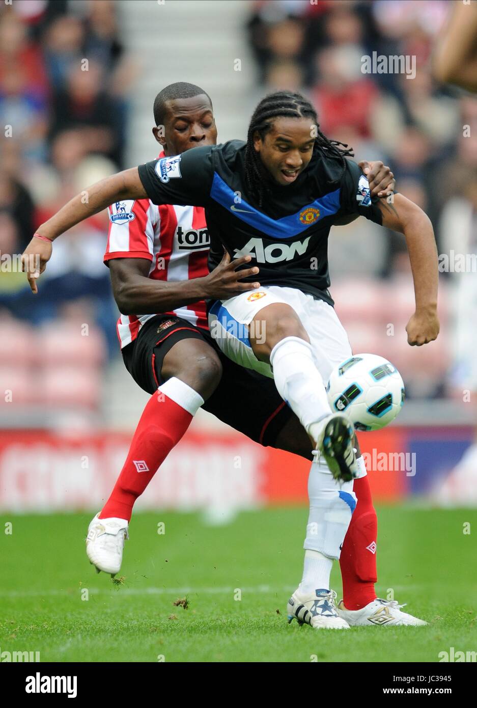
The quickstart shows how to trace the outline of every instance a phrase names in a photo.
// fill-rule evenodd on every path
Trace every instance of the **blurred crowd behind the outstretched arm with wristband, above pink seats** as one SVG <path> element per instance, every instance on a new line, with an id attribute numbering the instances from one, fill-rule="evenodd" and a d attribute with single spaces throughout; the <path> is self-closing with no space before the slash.
<path id="1" fill-rule="evenodd" d="M 1 8 L 0 253 L 21 253 L 35 227 L 84 185 L 122 169 L 135 67 L 117 11 L 110 0 L 15 0 Z M 86 298 L 90 324 L 104 324 L 115 346 L 102 263 L 107 226 L 98 215 L 62 239 L 35 299 L 25 276 L 5 265 L 0 316 L 41 324 L 67 310 L 71 318 Z"/>

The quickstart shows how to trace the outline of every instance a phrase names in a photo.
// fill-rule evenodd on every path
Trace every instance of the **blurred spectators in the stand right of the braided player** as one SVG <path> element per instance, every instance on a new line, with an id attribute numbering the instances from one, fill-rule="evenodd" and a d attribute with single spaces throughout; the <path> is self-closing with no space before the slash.
<path id="1" fill-rule="evenodd" d="M 357 160 L 382 159 L 391 166 L 397 191 L 432 220 L 439 254 L 452 249 L 466 254 L 477 252 L 477 98 L 437 84 L 431 68 L 432 47 L 451 10 L 447 0 L 258 0 L 247 30 L 258 67 L 257 95 L 289 89 L 311 98 L 327 137 L 352 146 Z M 363 57 L 372 59 L 373 52 L 376 57 L 415 57 L 415 75 L 364 73 Z M 398 234 L 373 238 L 369 224 L 351 224 L 348 231 L 349 237 L 332 234 L 330 239 L 331 271 L 338 282 L 337 289 L 332 278 L 331 292 L 347 329 L 361 325 L 367 330 L 364 346 L 371 321 L 379 326 L 389 321 L 389 308 L 382 313 L 384 322 L 379 316 L 383 295 L 396 301 L 408 289 L 409 262 Z M 333 270 L 333 263 L 338 268 Z M 340 287 L 340 272 L 347 273 L 347 280 L 350 272 L 355 276 L 352 287 L 349 282 Z M 425 348 L 437 368 L 430 364 L 422 391 L 415 376 L 411 393 L 438 396 L 462 387 L 477 389 L 476 365 L 469 361 L 477 346 L 471 324 L 477 314 L 476 280 L 475 271 L 442 273 L 444 327 L 436 343 Z M 401 281 L 407 285 L 400 291 Z M 353 292 L 362 307 L 350 302 Z M 453 319 L 457 302 L 459 318 Z M 368 304 L 371 316 L 366 316 Z M 348 314 L 354 322 L 346 321 Z M 351 341 L 360 349 L 358 333 Z M 391 356 L 396 341 L 389 348 Z M 403 350 L 403 356 L 396 365 L 408 370 L 412 355 Z M 408 371 L 407 379 L 412 381 L 415 373 Z"/>

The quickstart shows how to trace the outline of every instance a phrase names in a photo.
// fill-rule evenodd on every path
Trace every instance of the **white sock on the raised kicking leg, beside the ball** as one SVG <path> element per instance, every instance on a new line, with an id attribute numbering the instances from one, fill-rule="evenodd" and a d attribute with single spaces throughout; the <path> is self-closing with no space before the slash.
<path id="1" fill-rule="evenodd" d="M 270 364 L 277 391 L 310 433 L 310 426 L 331 413 L 311 346 L 299 337 L 285 337 L 272 349 Z"/>

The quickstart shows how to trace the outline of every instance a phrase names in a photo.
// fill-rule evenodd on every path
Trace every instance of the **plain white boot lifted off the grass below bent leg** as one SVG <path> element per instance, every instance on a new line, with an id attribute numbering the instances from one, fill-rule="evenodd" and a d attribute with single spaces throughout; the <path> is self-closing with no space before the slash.
<path id="1" fill-rule="evenodd" d="M 125 519 L 109 518 L 99 519 L 98 512 L 88 526 L 86 536 L 86 554 L 89 562 L 96 567 L 96 572 L 111 573 L 114 577 L 120 571 L 122 562 L 122 549 L 127 534 L 127 521 Z"/>

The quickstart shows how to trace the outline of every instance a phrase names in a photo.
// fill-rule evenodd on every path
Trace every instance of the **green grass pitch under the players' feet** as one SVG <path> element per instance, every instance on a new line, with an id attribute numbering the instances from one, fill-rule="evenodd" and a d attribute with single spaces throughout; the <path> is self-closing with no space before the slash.
<path id="1" fill-rule="evenodd" d="M 287 624 L 305 508 L 243 512 L 223 527 L 137 513 L 118 586 L 88 564 L 91 516 L 1 517 L 0 651 L 40 651 L 40 661 L 436 662 L 451 646 L 477 650 L 476 511 L 378 508 L 378 594 L 393 588 L 430 624 L 345 632 Z M 173 605 L 184 597 L 188 609 Z"/>

